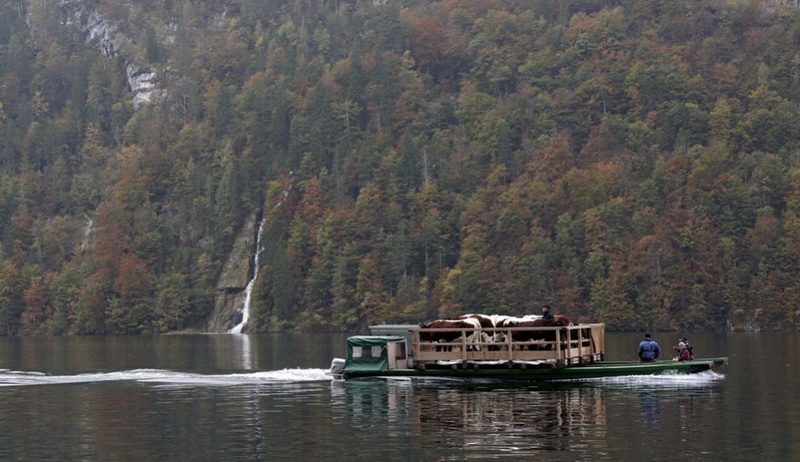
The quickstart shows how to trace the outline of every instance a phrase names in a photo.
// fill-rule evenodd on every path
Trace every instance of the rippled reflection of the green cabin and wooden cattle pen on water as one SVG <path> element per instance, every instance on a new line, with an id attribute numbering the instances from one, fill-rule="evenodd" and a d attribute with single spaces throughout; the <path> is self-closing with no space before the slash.
<path id="1" fill-rule="evenodd" d="M 607 427 L 603 390 L 580 384 L 349 380 L 333 394 L 354 427 L 391 436 L 411 426 L 413 446 L 472 448 L 476 456 L 575 450 L 586 438 L 602 444 Z"/>

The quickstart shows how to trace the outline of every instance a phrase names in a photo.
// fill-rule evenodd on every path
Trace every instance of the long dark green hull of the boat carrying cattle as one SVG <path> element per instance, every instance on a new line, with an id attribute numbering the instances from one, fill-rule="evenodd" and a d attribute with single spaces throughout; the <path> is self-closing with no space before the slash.
<path id="1" fill-rule="evenodd" d="M 460 379 L 497 380 L 581 380 L 626 375 L 652 375 L 667 371 L 694 374 L 712 369 L 727 362 L 727 358 L 695 359 L 692 361 L 656 361 L 652 363 L 604 361 L 600 363 L 561 368 L 533 367 L 453 367 L 427 369 L 395 369 L 385 371 L 345 371 L 345 379 L 366 377 L 443 377 Z"/>

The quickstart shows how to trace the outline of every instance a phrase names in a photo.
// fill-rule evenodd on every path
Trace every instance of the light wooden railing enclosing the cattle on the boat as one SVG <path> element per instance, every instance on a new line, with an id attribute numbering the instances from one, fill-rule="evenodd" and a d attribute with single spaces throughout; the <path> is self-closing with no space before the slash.
<path id="1" fill-rule="evenodd" d="M 460 336 L 451 342 L 420 339 L 421 334 L 446 332 L 458 332 Z M 525 332 L 526 336 L 536 339 L 515 341 L 512 335 L 515 332 Z M 463 364 L 467 361 L 473 364 L 476 361 L 545 361 L 553 367 L 563 367 L 602 361 L 605 352 L 604 332 L 604 324 L 534 328 L 421 328 L 411 332 L 411 344 L 416 367 L 423 369 L 427 365 L 448 361 L 462 361 Z"/>

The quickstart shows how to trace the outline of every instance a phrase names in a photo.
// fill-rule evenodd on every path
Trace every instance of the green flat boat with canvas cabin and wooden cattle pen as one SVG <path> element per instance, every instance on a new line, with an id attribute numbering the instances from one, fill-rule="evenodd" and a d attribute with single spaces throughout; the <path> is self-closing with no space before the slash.
<path id="1" fill-rule="evenodd" d="M 563 327 L 423 329 L 372 326 L 373 335 L 347 339 L 346 358 L 335 358 L 336 380 L 366 377 L 446 377 L 499 380 L 574 380 L 697 373 L 727 363 L 727 358 L 604 361 L 604 324 Z M 448 340 L 436 340 L 449 333 Z"/>

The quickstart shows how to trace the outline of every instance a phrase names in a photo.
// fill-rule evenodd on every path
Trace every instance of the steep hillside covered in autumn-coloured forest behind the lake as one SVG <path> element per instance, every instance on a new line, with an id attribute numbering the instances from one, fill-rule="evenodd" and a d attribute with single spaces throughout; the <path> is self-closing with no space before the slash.
<path id="1" fill-rule="evenodd" d="M 0 7 L 0 335 L 204 329 L 250 217 L 250 332 L 542 303 L 611 329 L 800 322 L 789 7 Z"/>

